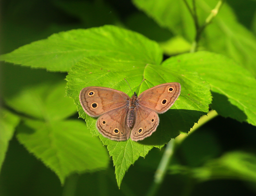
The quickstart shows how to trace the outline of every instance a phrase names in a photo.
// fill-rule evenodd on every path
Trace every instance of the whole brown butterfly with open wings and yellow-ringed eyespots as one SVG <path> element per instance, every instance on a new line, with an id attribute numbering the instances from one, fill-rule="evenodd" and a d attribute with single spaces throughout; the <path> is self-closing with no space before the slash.
<path id="1" fill-rule="evenodd" d="M 151 136 L 156 130 L 158 114 L 166 112 L 174 104 L 180 89 L 177 82 L 159 84 L 139 96 L 134 92 L 130 98 L 122 91 L 89 86 L 80 91 L 79 100 L 84 112 L 99 117 L 96 126 L 104 137 L 117 141 L 131 137 L 138 141 Z"/>

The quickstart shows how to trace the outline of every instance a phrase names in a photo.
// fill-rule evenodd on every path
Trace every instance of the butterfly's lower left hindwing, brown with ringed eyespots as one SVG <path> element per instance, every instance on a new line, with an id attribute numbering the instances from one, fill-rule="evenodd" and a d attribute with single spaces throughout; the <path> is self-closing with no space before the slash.
<path id="1" fill-rule="evenodd" d="M 130 137 L 126 123 L 128 106 L 123 106 L 101 115 L 96 123 L 99 132 L 106 138 L 123 141 Z"/>

